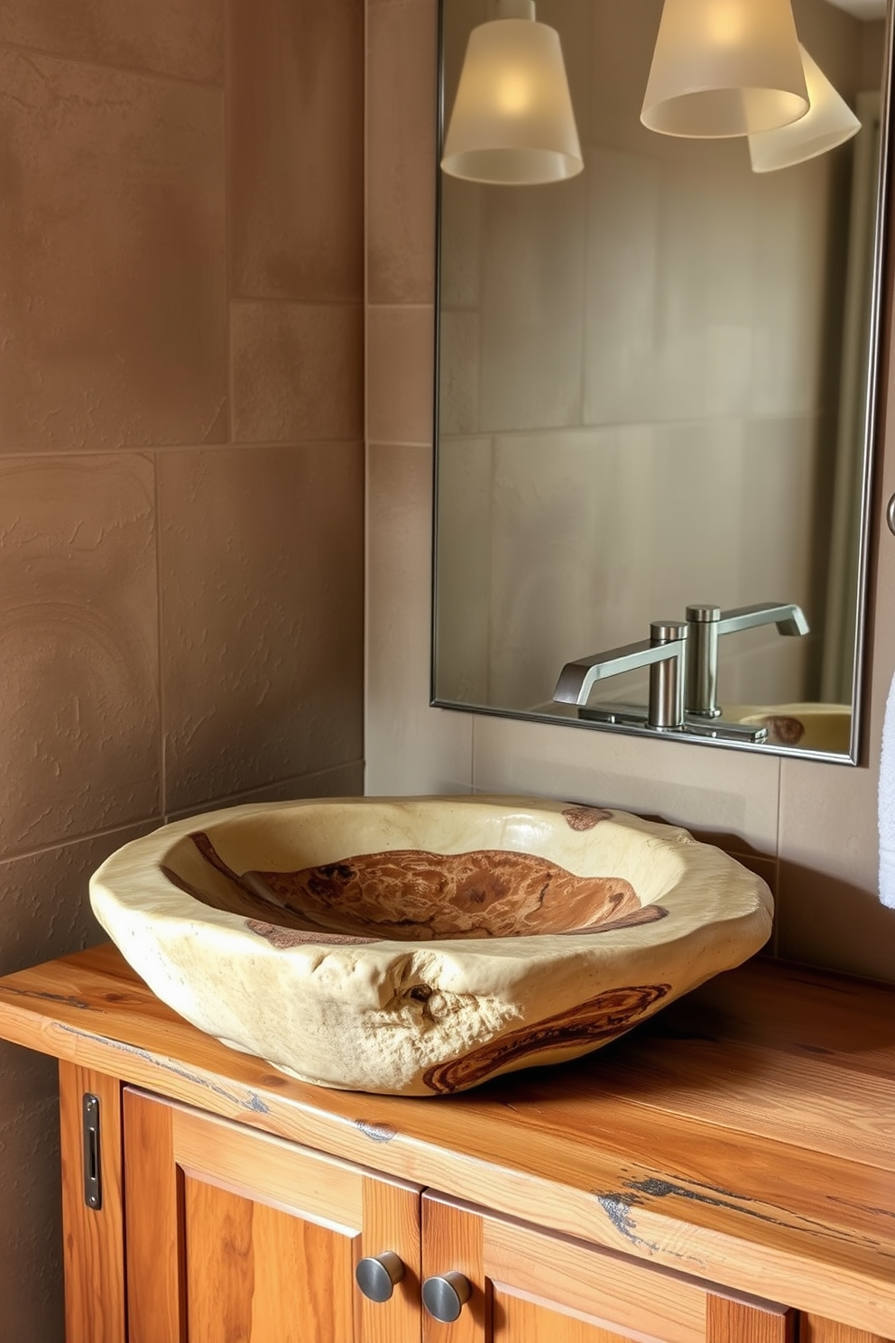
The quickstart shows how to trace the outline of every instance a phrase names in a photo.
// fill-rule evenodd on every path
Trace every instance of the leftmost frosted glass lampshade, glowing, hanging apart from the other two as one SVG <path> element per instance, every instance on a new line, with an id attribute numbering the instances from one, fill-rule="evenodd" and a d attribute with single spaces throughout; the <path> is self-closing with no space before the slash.
<path id="1" fill-rule="evenodd" d="M 470 34 L 441 168 L 517 187 L 574 177 L 584 160 L 560 35 L 535 23 L 533 0 L 499 0 L 498 13 Z"/>

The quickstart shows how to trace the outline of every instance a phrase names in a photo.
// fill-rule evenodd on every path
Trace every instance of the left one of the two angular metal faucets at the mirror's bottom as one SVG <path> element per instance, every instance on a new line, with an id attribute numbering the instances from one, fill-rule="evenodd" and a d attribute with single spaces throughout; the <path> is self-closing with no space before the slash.
<path id="1" fill-rule="evenodd" d="M 649 706 L 647 725 L 656 731 L 680 728 L 684 720 L 684 650 L 687 626 L 671 620 L 653 620 L 649 638 L 625 643 L 608 653 L 566 662 L 553 698 L 558 704 L 584 706 L 597 681 L 637 667 L 649 667 Z"/>

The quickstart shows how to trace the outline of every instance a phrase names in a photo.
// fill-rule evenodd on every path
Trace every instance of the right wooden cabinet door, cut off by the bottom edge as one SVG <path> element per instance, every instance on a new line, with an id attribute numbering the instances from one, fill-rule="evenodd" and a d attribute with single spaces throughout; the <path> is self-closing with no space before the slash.
<path id="1" fill-rule="evenodd" d="M 423 1197 L 423 1277 L 460 1273 L 454 1323 L 423 1312 L 424 1343 L 794 1343 L 794 1312 L 710 1289 L 568 1237 Z M 456 1281 L 455 1284 L 456 1285 Z M 424 1300 L 427 1288 L 424 1287 Z"/>

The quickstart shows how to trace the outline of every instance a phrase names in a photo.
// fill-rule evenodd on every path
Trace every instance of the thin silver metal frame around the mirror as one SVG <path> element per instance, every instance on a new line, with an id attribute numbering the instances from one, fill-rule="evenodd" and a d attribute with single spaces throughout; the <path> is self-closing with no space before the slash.
<path id="1" fill-rule="evenodd" d="M 441 314 L 441 145 L 445 134 L 445 106 L 444 106 L 444 11 L 451 0 L 439 0 L 437 24 L 437 154 L 436 154 L 436 238 L 435 238 L 435 406 L 433 406 L 433 506 L 432 506 L 432 626 L 431 626 L 431 682 L 429 704 L 433 708 L 455 709 L 464 713 L 482 713 L 490 717 L 517 719 L 526 723 L 543 723 L 550 727 L 585 728 L 596 732 L 615 732 L 624 736 L 641 736 L 653 740 L 666 739 L 668 741 L 686 741 L 694 745 L 723 747 L 730 751 L 749 751 L 761 755 L 778 755 L 788 759 L 816 760 L 827 764 L 859 766 L 864 763 L 867 755 L 865 740 L 865 670 L 867 670 L 867 643 L 868 643 L 868 610 L 870 596 L 870 564 L 874 545 L 878 539 L 878 522 L 875 513 L 875 482 L 878 478 L 878 462 L 883 451 L 880 399 L 884 391 L 884 376 L 882 369 L 882 356 L 884 353 L 884 332 L 882 320 L 886 306 L 884 285 L 891 269 L 890 239 L 892 235 L 892 222 L 888 215 L 890 172 L 892 161 L 892 68 L 894 68 L 894 42 L 895 42 L 895 0 L 888 0 L 886 15 L 886 36 L 883 50 L 882 99 L 880 99 L 880 149 L 879 149 L 879 188 L 876 199 L 876 219 L 872 258 L 872 282 L 870 298 L 868 320 L 868 375 L 864 403 L 864 451 L 861 463 L 860 486 L 860 530 L 856 565 L 856 610 L 857 619 L 855 627 L 853 673 L 852 673 L 852 719 L 848 753 L 809 751 L 797 745 L 788 747 L 776 743 L 753 743 L 745 740 L 721 740 L 710 736 L 684 735 L 676 729 L 656 729 L 639 727 L 631 723 L 601 723 L 584 717 L 564 717 L 561 714 L 541 713 L 533 710 L 503 709 L 494 705 L 478 705 L 440 698 L 436 692 L 436 658 L 437 658 L 437 556 L 439 556 L 439 398 L 440 398 L 440 314 Z M 882 524 L 880 524 L 882 528 Z M 895 530 L 895 526 L 892 528 Z"/>

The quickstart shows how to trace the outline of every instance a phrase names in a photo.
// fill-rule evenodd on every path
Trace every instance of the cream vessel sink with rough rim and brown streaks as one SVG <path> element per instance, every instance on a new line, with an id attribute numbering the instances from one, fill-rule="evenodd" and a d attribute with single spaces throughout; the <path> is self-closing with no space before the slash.
<path id="1" fill-rule="evenodd" d="M 519 798 L 255 804 L 91 881 L 170 1007 L 325 1086 L 439 1096 L 598 1049 L 768 939 L 759 877 L 684 830 Z"/>

